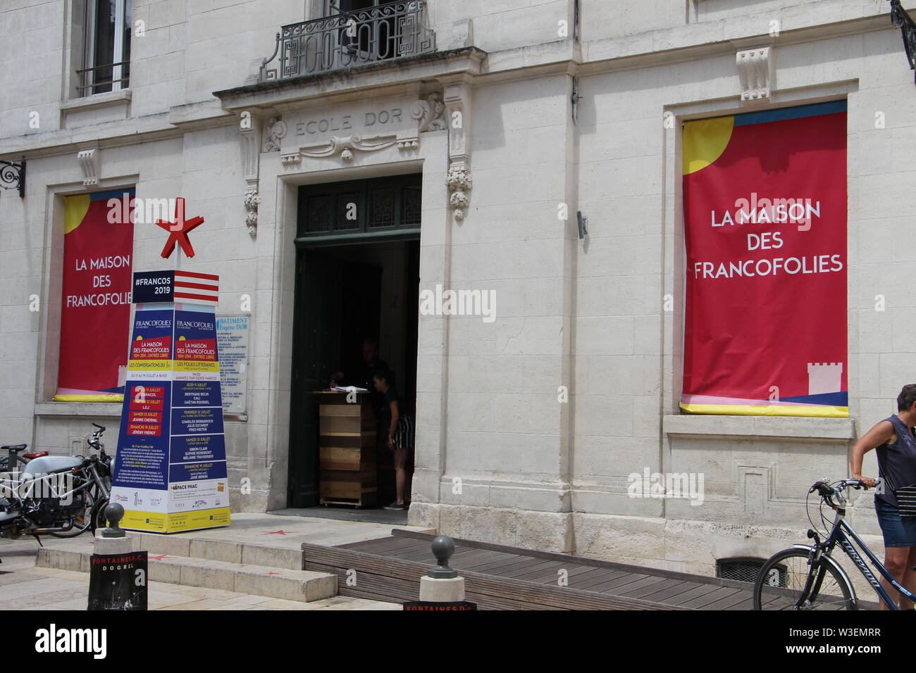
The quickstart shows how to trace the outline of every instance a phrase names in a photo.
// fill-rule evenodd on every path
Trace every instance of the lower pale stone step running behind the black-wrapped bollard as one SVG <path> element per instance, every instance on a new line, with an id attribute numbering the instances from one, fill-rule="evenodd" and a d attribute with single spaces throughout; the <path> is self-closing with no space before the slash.
<path id="1" fill-rule="evenodd" d="M 143 546 L 138 545 L 137 548 Z M 66 546 L 39 549 L 35 564 L 44 568 L 89 572 L 92 554 L 93 545 L 88 539 L 86 542 L 70 540 Z M 191 558 L 164 552 L 154 554 L 150 551 L 148 579 L 288 601 L 311 602 L 337 595 L 337 576 L 327 572 Z"/>

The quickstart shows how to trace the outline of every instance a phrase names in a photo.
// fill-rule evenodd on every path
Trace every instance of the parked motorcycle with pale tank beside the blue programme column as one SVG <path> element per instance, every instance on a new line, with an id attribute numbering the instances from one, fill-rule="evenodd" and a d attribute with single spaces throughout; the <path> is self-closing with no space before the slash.
<path id="1" fill-rule="evenodd" d="M 99 442 L 104 427 L 93 426 L 98 430 L 89 446 L 98 455 L 40 456 L 29 460 L 21 472 L 0 475 L 0 537 L 31 535 L 40 545 L 38 536 L 71 532 L 87 510 L 88 526 L 83 529 L 94 532 L 104 526 L 113 466 Z M 19 447 L 25 448 L 15 449 Z"/>

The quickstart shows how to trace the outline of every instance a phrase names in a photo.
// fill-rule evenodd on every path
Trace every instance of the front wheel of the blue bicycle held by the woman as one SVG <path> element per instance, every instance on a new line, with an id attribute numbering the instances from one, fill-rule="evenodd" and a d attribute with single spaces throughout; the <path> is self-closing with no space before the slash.
<path id="1" fill-rule="evenodd" d="M 812 574 L 809 582 L 809 574 Z M 802 594 L 805 600 L 798 606 Z M 805 549 L 783 549 L 763 564 L 754 582 L 755 610 L 857 610 L 856 596 L 832 565 L 808 563 Z"/>

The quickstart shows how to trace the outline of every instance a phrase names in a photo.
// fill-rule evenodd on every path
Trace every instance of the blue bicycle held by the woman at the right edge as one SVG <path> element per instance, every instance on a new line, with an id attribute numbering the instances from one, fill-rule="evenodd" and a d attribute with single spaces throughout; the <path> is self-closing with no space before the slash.
<path id="1" fill-rule="evenodd" d="M 832 556 L 837 545 L 852 559 L 859 572 L 878 593 L 880 600 L 890 610 L 899 610 L 897 602 L 889 596 L 856 551 L 854 542 L 865 553 L 875 570 L 878 570 L 894 589 L 916 601 L 916 593 L 900 585 L 900 582 L 893 578 L 845 520 L 846 498 L 843 492 L 846 487 L 857 490 L 864 486 L 865 483 L 858 479 L 841 479 L 833 483 L 822 480 L 812 484 L 808 493 L 817 491 L 821 498 L 820 514 L 823 524 L 831 526 L 823 514 L 824 505 L 836 513 L 834 523 L 823 542 L 816 530 L 809 529 L 808 537 L 814 540 L 814 544 L 792 545 L 791 548 L 777 552 L 763 564 L 754 583 L 755 610 L 858 610 L 858 599 L 852 581 Z M 807 508 L 807 502 L 805 506 Z"/>

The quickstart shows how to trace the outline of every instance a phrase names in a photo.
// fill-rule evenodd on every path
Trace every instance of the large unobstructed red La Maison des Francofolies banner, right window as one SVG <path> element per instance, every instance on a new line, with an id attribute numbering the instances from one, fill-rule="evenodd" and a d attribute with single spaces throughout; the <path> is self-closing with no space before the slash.
<path id="1" fill-rule="evenodd" d="M 846 103 L 683 126 L 692 413 L 848 416 Z"/>

